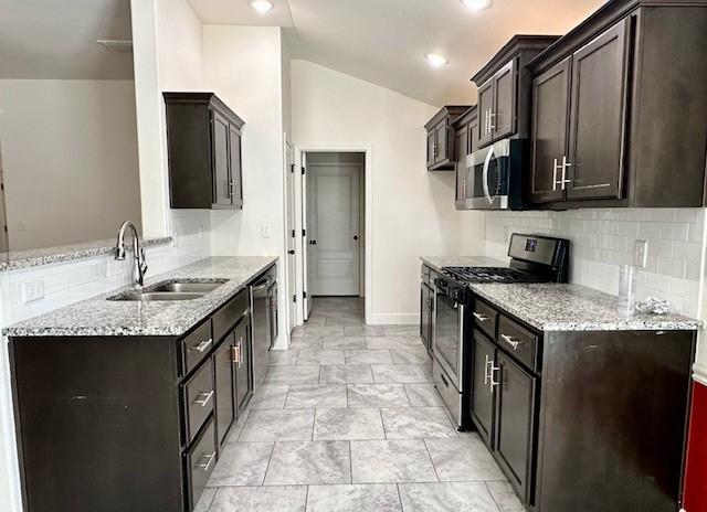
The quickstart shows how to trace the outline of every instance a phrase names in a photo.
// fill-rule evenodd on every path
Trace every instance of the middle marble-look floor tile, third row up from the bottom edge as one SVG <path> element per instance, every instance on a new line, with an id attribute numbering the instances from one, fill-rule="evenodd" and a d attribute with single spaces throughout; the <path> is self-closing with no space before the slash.
<path id="1" fill-rule="evenodd" d="M 380 410 L 319 409 L 314 418 L 314 439 L 386 439 Z"/>

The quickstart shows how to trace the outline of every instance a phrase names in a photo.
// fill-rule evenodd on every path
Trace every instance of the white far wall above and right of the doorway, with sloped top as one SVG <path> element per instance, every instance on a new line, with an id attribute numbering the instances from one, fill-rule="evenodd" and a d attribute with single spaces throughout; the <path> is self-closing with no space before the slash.
<path id="1" fill-rule="evenodd" d="M 453 173 L 426 171 L 424 124 L 437 108 L 299 60 L 292 104 L 299 149 L 371 148 L 371 321 L 416 322 L 419 257 L 483 252 L 481 215 L 454 210 Z"/>

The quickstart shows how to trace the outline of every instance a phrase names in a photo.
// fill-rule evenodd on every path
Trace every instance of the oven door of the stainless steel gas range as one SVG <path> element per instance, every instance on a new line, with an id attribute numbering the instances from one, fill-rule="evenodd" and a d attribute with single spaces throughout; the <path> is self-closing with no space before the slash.
<path id="1" fill-rule="evenodd" d="M 464 340 L 464 305 L 435 289 L 434 358 L 462 391 L 462 350 Z"/>

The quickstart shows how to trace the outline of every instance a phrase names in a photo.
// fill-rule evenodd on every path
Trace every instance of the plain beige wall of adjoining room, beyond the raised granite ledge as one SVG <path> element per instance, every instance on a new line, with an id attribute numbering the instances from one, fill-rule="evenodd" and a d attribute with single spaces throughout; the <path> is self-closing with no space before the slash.
<path id="1" fill-rule="evenodd" d="M 0 142 L 12 250 L 140 224 L 131 81 L 0 81 Z"/>

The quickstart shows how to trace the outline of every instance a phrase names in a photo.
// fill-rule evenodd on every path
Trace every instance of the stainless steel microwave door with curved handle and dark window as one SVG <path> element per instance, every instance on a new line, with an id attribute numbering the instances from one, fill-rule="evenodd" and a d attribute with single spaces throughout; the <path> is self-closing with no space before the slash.
<path id="1" fill-rule="evenodd" d="M 466 157 L 467 210 L 506 210 L 510 140 L 499 140 Z"/>

